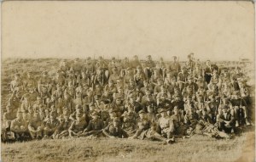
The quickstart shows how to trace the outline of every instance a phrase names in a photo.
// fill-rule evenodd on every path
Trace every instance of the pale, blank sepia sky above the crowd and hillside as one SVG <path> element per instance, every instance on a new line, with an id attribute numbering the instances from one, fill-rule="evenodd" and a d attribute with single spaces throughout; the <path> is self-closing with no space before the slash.
<path id="1" fill-rule="evenodd" d="M 7 1 L 2 59 L 254 60 L 253 16 L 253 3 L 234 1 Z"/>

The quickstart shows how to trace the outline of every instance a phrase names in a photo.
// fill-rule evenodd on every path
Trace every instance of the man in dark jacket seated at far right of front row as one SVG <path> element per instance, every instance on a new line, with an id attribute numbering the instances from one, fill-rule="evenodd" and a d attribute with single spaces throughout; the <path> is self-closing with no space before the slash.
<path id="1" fill-rule="evenodd" d="M 228 112 L 228 107 L 224 106 L 223 109 L 218 109 L 217 115 L 218 130 L 230 133 L 235 127 L 234 116 Z M 234 130 L 233 130 L 234 131 Z"/>

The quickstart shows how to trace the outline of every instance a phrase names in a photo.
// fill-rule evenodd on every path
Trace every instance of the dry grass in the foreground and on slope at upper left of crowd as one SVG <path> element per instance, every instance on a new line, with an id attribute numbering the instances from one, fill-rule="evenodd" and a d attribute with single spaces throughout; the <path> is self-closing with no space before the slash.
<path id="1" fill-rule="evenodd" d="M 34 70 L 38 75 L 43 70 L 54 73 L 60 59 L 7 59 L 2 62 L 3 113 L 9 81 L 15 70 L 22 74 Z M 253 129 L 254 130 L 254 129 Z M 177 139 L 172 145 L 128 139 L 88 139 L 43 140 L 32 142 L 2 143 L 2 161 L 204 161 L 204 162 L 253 162 L 254 131 L 247 131 L 230 140 L 216 140 L 195 135 L 189 139 Z"/>

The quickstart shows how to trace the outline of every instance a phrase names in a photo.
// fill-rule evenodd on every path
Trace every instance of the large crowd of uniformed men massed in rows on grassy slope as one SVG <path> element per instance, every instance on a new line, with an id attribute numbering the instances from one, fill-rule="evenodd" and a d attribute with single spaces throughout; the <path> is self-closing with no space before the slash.
<path id="1" fill-rule="evenodd" d="M 250 125 L 241 67 L 219 68 L 193 53 L 184 64 L 150 55 L 63 60 L 54 73 L 34 74 L 18 71 L 10 82 L 3 141 L 110 137 L 172 143 L 195 133 L 229 138 Z"/>

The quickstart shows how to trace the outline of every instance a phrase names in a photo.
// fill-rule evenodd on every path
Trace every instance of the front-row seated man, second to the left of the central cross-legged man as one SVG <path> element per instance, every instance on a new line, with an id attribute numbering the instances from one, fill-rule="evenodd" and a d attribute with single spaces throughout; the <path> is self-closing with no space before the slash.
<path id="1" fill-rule="evenodd" d="M 77 112 L 76 119 L 73 120 L 71 126 L 68 129 L 69 137 L 79 137 L 80 134 L 83 133 L 84 128 L 88 123 L 83 118 L 83 114 L 81 112 Z"/>

